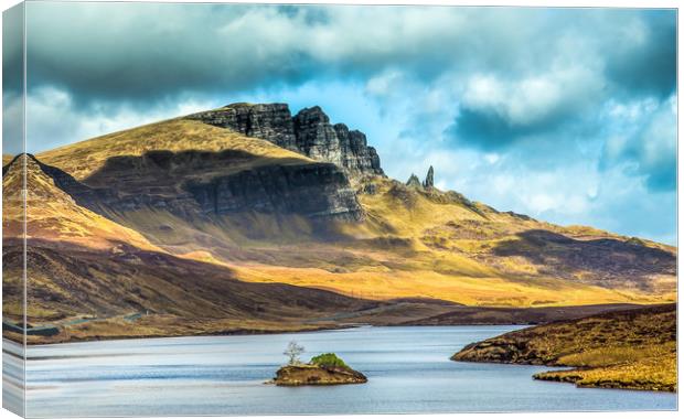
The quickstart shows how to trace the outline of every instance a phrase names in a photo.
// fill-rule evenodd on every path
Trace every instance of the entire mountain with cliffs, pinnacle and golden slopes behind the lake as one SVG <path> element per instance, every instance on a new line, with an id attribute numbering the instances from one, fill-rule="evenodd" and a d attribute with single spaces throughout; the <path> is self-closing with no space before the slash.
<path id="1" fill-rule="evenodd" d="M 71 333 L 55 339 L 527 323 L 676 298 L 673 247 L 499 212 L 432 169 L 392 180 L 374 152 L 319 107 L 235 104 L 28 155 L 30 321 Z M 20 296 L 23 211 L 7 203 Z M 18 319 L 19 297 L 7 307 Z"/>

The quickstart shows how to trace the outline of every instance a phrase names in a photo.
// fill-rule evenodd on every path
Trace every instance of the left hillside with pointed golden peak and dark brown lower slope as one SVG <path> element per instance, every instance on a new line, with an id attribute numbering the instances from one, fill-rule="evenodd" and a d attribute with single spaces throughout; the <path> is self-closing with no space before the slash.
<path id="1" fill-rule="evenodd" d="M 55 184 L 53 176 L 65 182 L 61 171 L 31 155 L 25 165 L 26 316 L 30 327 L 58 327 L 30 342 L 308 330 L 335 326 L 308 321 L 377 307 L 329 291 L 247 283 L 202 254 L 170 255 L 77 205 Z M 21 174 L 20 159 L 3 169 L 6 196 L 21 190 Z M 21 206 L 6 206 L 3 315 L 15 323 L 22 318 L 22 219 Z"/>

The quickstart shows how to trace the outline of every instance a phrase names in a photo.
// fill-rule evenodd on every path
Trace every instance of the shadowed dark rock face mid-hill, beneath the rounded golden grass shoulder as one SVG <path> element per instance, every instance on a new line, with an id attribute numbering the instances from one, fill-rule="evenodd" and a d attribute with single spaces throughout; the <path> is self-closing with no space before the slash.
<path id="1" fill-rule="evenodd" d="M 265 164 L 235 150 L 152 151 L 110 159 L 86 180 L 87 185 L 40 164 L 79 205 L 96 212 L 147 207 L 184 218 L 253 211 L 343 221 L 363 217 L 344 173 L 330 163 Z M 232 170 L 238 164 L 249 169 Z"/>

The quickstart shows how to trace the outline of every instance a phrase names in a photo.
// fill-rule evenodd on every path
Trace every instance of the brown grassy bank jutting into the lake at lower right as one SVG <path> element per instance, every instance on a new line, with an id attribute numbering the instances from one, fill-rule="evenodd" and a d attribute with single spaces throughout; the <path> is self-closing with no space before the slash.
<path id="1" fill-rule="evenodd" d="M 676 307 L 619 311 L 524 329 L 466 346 L 455 361 L 571 366 L 537 379 L 676 390 Z"/>

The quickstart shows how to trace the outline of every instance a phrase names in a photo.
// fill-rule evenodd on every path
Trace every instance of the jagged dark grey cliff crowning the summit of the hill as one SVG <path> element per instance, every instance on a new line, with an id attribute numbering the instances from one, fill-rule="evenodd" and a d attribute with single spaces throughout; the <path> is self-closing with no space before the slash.
<path id="1" fill-rule="evenodd" d="M 228 128 L 311 159 L 333 163 L 352 180 L 368 174 L 384 175 L 380 157 L 367 144 L 365 135 L 350 130 L 344 123 L 332 125 L 318 106 L 304 108 L 292 117 L 286 104 L 233 104 L 186 118 Z"/>

